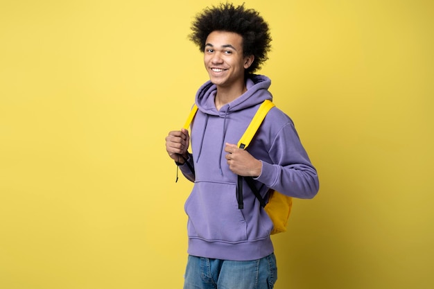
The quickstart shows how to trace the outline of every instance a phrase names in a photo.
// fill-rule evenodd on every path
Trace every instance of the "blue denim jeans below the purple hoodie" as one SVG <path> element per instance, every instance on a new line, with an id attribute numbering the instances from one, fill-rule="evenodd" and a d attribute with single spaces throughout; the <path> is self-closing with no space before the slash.
<path id="1" fill-rule="evenodd" d="M 189 256 L 184 289 L 272 289 L 276 280 L 275 254 L 254 261 Z"/>

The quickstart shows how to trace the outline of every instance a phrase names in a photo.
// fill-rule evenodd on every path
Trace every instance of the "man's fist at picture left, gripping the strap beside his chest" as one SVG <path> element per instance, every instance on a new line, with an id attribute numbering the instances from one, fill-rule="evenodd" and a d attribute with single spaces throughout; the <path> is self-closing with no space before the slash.
<path id="1" fill-rule="evenodd" d="M 168 133 L 166 137 L 166 151 L 173 160 L 184 164 L 184 159 L 187 158 L 187 150 L 190 145 L 189 131 L 182 128 L 182 130 L 173 130 Z"/>

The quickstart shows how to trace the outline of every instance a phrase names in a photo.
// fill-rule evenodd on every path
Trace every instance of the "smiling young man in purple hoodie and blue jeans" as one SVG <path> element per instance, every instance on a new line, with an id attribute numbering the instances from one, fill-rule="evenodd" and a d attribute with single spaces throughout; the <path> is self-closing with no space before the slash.
<path id="1" fill-rule="evenodd" d="M 266 199 L 268 188 L 294 198 L 313 198 L 318 176 L 293 122 L 277 107 L 268 112 L 248 150 L 236 146 L 263 100 L 272 100 L 270 79 L 253 74 L 270 51 L 268 24 L 244 6 L 205 8 L 190 39 L 204 53 L 209 81 L 196 94 L 198 112 L 187 130 L 166 137 L 166 150 L 194 182 L 185 203 L 189 216 L 189 260 L 184 289 L 272 288 L 277 279 L 270 239 L 272 221 L 243 186 L 238 209 L 237 175 L 254 177 Z"/>

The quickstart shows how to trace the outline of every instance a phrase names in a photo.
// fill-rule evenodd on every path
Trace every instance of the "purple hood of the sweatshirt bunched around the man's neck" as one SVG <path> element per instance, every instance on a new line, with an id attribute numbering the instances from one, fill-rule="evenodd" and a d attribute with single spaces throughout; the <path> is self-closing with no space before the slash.
<path id="1" fill-rule="evenodd" d="M 233 100 L 231 103 L 223 105 L 220 112 L 216 110 L 214 98 L 217 93 L 217 86 L 212 84 L 211 81 L 205 82 L 196 94 L 196 105 L 201 112 L 211 115 L 229 114 L 243 110 L 246 107 L 252 107 L 263 100 L 272 100 L 272 95 L 268 91 L 271 85 L 270 78 L 257 74 L 251 74 L 246 80 L 247 91 L 244 94 Z"/>

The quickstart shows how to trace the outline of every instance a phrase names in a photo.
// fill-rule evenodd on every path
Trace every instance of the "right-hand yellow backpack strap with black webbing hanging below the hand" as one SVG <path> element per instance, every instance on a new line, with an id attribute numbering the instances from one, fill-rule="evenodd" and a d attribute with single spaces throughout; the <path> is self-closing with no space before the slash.
<path id="1" fill-rule="evenodd" d="M 272 107 L 275 107 L 275 104 L 272 103 L 271 100 L 264 100 L 263 103 L 261 103 L 256 114 L 254 114 L 252 121 L 250 121 L 250 125 L 248 126 L 247 130 L 245 130 L 243 137 L 241 137 L 241 139 L 238 141 L 238 148 L 242 148 L 243 150 L 245 150 L 245 148 L 248 147 L 250 141 L 252 141 L 254 137 L 254 134 L 257 133 L 259 126 L 261 126 L 263 119 L 266 118 L 266 115 L 272 109 Z M 251 177 L 243 178 L 241 175 L 238 175 L 238 186 L 236 188 L 236 200 L 238 201 L 238 209 L 244 208 L 243 179 L 245 179 L 245 181 L 250 186 L 250 189 L 252 189 L 254 195 L 256 195 L 256 197 L 258 198 L 261 206 L 265 207 L 265 201 L 263 200 L 261 195 L 259 195 L 258 190 L 254 187 L 253 179 Z"/>

